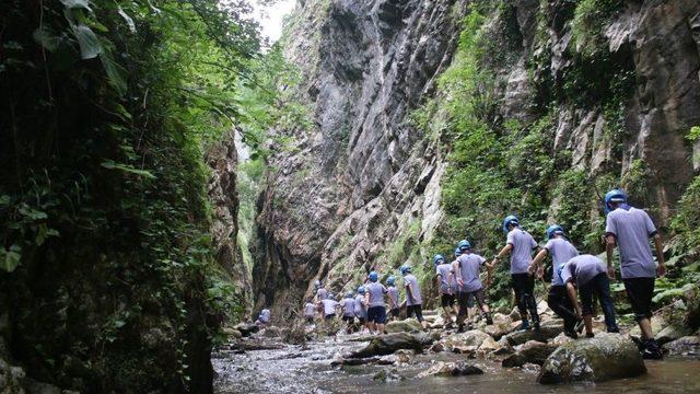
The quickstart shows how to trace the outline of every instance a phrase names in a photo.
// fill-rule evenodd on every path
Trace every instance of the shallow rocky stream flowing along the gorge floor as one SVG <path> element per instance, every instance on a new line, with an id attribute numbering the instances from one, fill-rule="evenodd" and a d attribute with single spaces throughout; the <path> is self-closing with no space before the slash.
<path id="1" fill-rule="evenodd" d="M 468 360 L 483 370 L 481 375 L 456 378 L 416 378 L 436 361 L 467 360 L 450 352 L 424 354 L 410 363 L 395 366 L 331 367 L 342 354 L 362 348 L 366 343 L 347 341 L 347 337 L 284 345 L 276 350 L 250 350 L 237 354 L 217 352 L 212 359 L 217 393 L 700 393 L 700 360 L 666 359 L 648 361 L 648 373 L 640 378 L 597 384 L 541 385 L 537 371 L 501 368 L 495 359 Z M 381 371 L 394 381 L 375 381 Z"/>

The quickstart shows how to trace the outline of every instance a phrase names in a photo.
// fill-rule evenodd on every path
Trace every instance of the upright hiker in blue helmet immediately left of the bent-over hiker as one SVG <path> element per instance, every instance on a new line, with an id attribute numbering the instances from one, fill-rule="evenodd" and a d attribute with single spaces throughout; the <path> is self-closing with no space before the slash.
<path id="1" fill-rule="evenodd" d="M 559 273 L 561 267 L 571 258 L 579 255 L 579 251 L 569 242 L 564 234 L 564 229 L 559 224 L 552 224 L 547 228 L 547 244 L 535 256 L 530 263 L 528 273 L 530 275 L 538 273 L 541 278 L 544 266 L 542 260 L 547 256 L 551 256 L 551 286 L 547 294 L 547 304 L 561 318 L 564 320 L 564 334 L 571 338 L 576 338 L 576 325 L 581 322 L 578 318 L 574 304 L 567 293 L 567 285 L 561 280 Z"/>

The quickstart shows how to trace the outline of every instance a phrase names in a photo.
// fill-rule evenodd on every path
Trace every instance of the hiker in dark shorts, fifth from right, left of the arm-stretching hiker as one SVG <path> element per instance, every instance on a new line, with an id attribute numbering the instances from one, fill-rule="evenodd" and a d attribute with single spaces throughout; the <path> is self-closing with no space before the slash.
<path id="1" fill-rule="evenodd" d="M 457 260 L 452 267 L 452 271 L 455 275 L 457 282 L 457 299 L 459 302 L 459 314 L 457 315 L 458 332 L 464 332 L 465 317 L 467 317 L 467 302 L 469 297 L 472 297 L 476 303 L 481 309 L 481 313 L 486 318 L 487 324 L 493 324 L 491 320 L 491 313 L 489 305 L 486 303 L 485 289 L 479 278 L 479 270 L 481 265 L 486 263 L 486 258 L 471 252 L 471 244 L 467 240 L 459 241 L 459 251 L 462 255 L 457 257 Z M 491 271 L 489 269 L 489 277 Z M 471 316 L 469 317 L 468 326 L 471 327 Z"/>

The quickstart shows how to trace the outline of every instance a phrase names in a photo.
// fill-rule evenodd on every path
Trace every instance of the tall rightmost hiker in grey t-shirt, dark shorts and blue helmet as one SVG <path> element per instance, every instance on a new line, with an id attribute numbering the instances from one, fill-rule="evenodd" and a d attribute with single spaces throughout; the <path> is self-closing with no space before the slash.
<path id="1" fill-rule="evenodd" d="M 605 195 L 605 241 L 608 263 L 608 276 L 615 280 L 612 252 L 620 251 L 620 273 L 632 305 L 634 318 L 642 332 L 641 351 L 648 359 L 661 359 L 663 354 L 652 332 L 652 296 L 656 276 L 666 275 L 664 245 L 649 215 L 627 204 L 627 195 L 612 189 Z M 649 239 L 654 240 L 656 259 L 654 264 Z"/>

